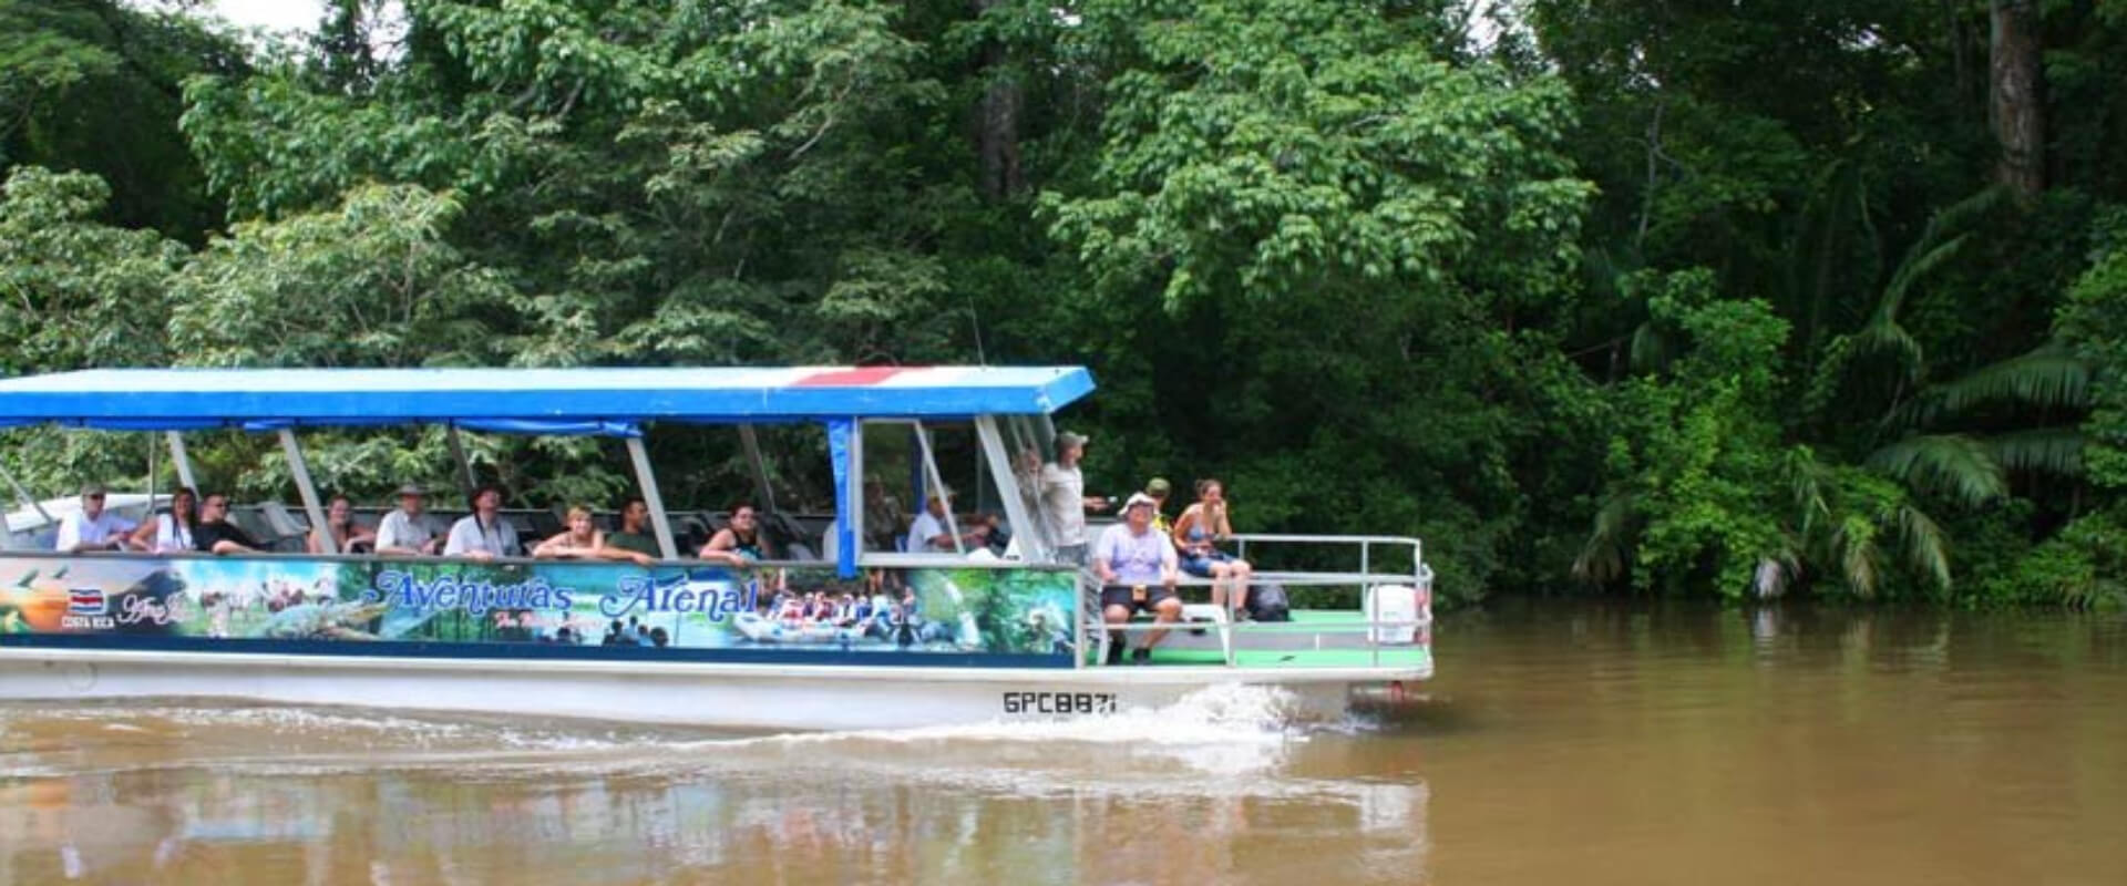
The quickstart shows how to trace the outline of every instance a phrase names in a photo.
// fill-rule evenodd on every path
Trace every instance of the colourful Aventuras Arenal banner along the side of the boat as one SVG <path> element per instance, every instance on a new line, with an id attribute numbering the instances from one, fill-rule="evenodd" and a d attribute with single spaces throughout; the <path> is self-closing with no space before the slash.
<path id="1" fill-rule="evenodd" d="M 547 644 L 1070 657 L 1051 569 L 0 559 L 0 637 Z"/>

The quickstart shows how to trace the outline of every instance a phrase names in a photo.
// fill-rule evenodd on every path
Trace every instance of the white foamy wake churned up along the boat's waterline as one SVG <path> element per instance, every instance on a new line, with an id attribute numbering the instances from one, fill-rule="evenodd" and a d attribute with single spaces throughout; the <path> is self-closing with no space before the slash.
<path id="1" fill-rule="evenodd" d="M 668 727 L 274 705 L 0 708 L 0 778 L 215 769 L 334 776 L 710 778 L 951 784 L 1012 795 L 1217 793 L 1278 769 L 1323 729 L 1274 686 L 1208 686 L 1172 705 L 1068 720 L 704 735 Z M 60 752 L 64 748 L 64 752 Z M 51 752 L 40 752 L 51 750 Z"/>

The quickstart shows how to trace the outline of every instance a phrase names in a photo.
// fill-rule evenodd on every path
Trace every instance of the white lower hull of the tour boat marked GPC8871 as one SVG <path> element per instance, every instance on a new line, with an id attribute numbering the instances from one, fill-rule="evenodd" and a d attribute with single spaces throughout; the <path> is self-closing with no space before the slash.
<path id="1" fill-rule="evenodd" d="M 1402 699 L 1429 667 L 836 667 L 0 648 L 0 699 L 217 697 L 730 729 L 908 729 L 1159 708 L 1278 686 L 1293 718 Z M 1412 693 L 1414 695 L 1414 693 Z"/>

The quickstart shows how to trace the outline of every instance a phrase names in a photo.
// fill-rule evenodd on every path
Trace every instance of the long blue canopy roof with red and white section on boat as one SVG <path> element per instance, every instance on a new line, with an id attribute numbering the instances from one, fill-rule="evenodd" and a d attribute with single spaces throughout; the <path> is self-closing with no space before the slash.
<path id="1" fill-rule="evenodd" d="M 1093 391 L 1044 368 L 85 370 L 0 380 L 0 427 L 181 431 L 453 423 L 638 433 L 644 421 L 1049 414 Z"/>

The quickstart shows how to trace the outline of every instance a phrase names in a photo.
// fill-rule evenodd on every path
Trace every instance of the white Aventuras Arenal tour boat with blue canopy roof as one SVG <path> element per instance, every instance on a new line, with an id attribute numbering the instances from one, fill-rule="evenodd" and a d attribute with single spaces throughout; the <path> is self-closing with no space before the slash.
<path id="1" fill-rule="evenodd" d="M 1251 623 L 1204 603 L 1208 582 L 1191 580 L 1187 629 L 1149 663 L 1108 665 L 1098 582 L 1059 563 L 1055 527 L 1021 474 L 1053 457 L 1053 414 L 1091 391 L 1085 368 L 85 370 L 0 380 L 0 427 L 164 433 L 185 487 L 185 433 L 279 436 L 300 501 L 300 512 L 259 506 L 296 523 L 289 552 L 55 552 L 6 533 L 0 699 L 225 697 L 891 729 L 1100 716 L 1229 684 L 1276 686 L 1295 716 L 1329 718 L 1417 695 L 1431 676 L 1431 569 L 1419 540 L 1395 535 L 1236 535 L 1234 552 L 1261 567 L 1257 582 L 1340 586 L 1366 603 Z M 376 425 L 440 427 L 468 489 L 462 433 L 619 440 L 661 557 L 300 552 L 300 531 L 325 518 L 304 433 Z M 719 433 L 704 425 L 738 429 L 755 506 L 781 529 L 787 559 L 730 567 L 683 548 L 676 527 L 700 518 L 666 508 L 647 436 Z M 832 478 L 832 514 L 778 510 L 770 463 Z M 891 518 L 900 497 L 887 489 L 917 508 L 947 495 L 957 550 L 887 546 L 889 533 L 866 525 Z M 1010 546 L 966 550 L 966 512 L 995 514 Z M 1151 629 L 1136 620 L 1121 631 Z"/>

